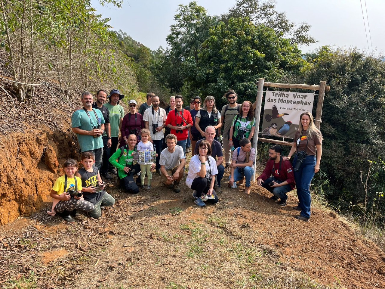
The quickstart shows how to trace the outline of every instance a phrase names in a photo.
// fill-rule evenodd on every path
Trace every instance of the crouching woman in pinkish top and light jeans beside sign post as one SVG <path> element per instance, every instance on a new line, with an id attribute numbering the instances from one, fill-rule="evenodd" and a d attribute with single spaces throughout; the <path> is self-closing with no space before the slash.
<path id="1" fill-rule="evenodd" d="M 236 148 L 231 159 L 229 176 L 229 187 L 233 187 L 234 182 L 246 178 L 244 192 L 250 194 L 251 176 L 254 175 L 253 163 L 255 160 L 255 149 L 251 148 L 251 141 L 248 138 L 243 138 L 239 142 L 240 147 Z M 242 181 L 243 182 L 243 181 Z"/>

